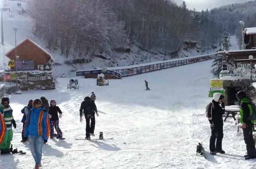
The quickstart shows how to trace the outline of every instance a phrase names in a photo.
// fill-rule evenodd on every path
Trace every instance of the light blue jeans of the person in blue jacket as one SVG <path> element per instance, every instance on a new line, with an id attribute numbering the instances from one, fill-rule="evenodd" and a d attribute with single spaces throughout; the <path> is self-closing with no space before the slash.
<path id="1" fill-rule="evenodd" d="M 34 157 L 36 165 L 41 164 L 42 160 L 42 148 L 43 148 L 43 136 L 30 136 L 29 135 L 29 147 Z"/>

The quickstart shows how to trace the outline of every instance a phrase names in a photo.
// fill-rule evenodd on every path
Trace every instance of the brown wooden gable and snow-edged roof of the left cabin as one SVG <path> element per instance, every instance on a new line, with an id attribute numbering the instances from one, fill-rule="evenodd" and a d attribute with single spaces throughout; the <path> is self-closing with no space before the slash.
<path id="1" fill-rule="evenodd" d="M 15 47 L 7 52 L 5 56 L 10 60 L 15 60 Z M 19 56 L 19 61 L 30 61 L 33 63 L 34 70 L 38 70 L 40 65 L 46 65 L 49 63 L 51 65 L 51 62 L 53 61 L 53 56 L 49 52 L 29 38 L 17 44 L 17 56 Z M 13 71 L 15 68 L 11 67 L 11 70 Z"/>

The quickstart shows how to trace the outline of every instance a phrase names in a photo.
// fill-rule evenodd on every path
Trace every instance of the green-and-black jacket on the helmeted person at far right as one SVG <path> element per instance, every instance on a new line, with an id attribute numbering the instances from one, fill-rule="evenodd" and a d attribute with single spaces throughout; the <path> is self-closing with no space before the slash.
<path id="1" fill-rule="evenodd" d="M 241 115 L 241 119 L 240 119 L 240 123 L 245 122 L 246 124 L 251 122 L 254 123 L 255 120 L 249 120 L 249 116 L 252 115 L 253 113 L 253 108 L 251 106 L 251 102 L 246 99 L 243 98 L 240 100 L 240 115 Z"/>

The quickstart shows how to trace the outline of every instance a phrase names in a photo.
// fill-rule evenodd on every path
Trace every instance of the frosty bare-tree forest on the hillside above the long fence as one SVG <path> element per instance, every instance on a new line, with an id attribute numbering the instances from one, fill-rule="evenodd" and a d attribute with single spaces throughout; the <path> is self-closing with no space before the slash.
<path id="1" fill-rule="evenodd" d="M 143 50 L 169 54 L 183 42 L 215 44 L 222 31 L 208 12 L 167 0 L 29 0 L 34 33 L 47 48 L 87 62 L 95 52 Z M 223 26 L 224 27 L 224 26 Z"/>

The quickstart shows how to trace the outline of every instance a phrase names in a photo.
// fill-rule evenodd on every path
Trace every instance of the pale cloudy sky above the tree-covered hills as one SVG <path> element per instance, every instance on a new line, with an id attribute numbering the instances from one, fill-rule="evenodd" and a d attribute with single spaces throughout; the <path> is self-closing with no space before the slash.
<path id="1" fill-rule="evenodd" d="M 250 0 L 173 0 L 178 5 L 181 5 L 183 1 L 186 2 L 188 9 L 193 10 L 194 8 L 197 11 L 208 10 L 220 7 L 223 5 L 231 5 L 235 3 L 244 3 L 249 2 Z M 253 0 L 252 0 L 253 1 Z"/>

